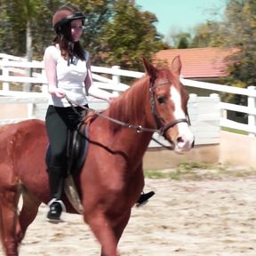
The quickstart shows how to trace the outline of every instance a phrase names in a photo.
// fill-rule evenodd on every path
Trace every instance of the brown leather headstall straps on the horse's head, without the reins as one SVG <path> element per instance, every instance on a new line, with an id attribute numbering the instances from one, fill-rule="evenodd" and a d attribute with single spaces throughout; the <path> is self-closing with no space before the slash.
<path id="1" fill-rule="evenodd" d="M 151 113 L 153 114 L 153 116 L 155 118 L 156 127 L 160 127 L 160 128 L 158 128 L 159 133 L 163 136 L 169 128 L 172 128 L 176 124 L 187 123 L 188 125 L 190 125 L 188 115 L 187 115 L 187 118 L 179 118 L 176 120 L 172 120 L 168 124 L 164 124 L 163 118 L 158 114 L 157 109 L 156 109 L 156 92 L 155 92 L 155 89 L 157 86 L 161 86 L 164 84 L 171 84 L 171 82 L 169 80 L 167 80 L 167 81 L 164 81 L 163 83 L 159 83 L 159 84 L 155 85 L 153 81 L 150 81 L 150 84 L 149 84 Z"/>

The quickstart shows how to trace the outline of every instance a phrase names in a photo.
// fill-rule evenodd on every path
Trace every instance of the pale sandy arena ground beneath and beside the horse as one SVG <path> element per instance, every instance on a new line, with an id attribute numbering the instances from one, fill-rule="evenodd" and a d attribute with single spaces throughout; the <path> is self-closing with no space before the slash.
<path id="1" fill-rule="evenodd" d="M 119 243 L 121 256 L 255 256 L 256 175 L 242 176 L 147 179 L 145 190 L 156 196 L 133 208 Z M 20 256 L 100 256 L 81 216 L 65 214 L 64 223 L 53 225 L 45 214 L 42 205 Z"/>

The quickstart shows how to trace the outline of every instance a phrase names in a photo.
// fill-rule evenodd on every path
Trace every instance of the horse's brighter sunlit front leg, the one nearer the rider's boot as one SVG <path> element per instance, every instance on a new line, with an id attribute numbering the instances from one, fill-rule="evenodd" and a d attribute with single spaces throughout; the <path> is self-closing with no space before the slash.
<path id="1" fill-rule="evenodd" d="M 87 216 L 86 222 L 101 245 L 101 256 L 117 256 L 116 234 L 108 218 L 101 211 Z"/>

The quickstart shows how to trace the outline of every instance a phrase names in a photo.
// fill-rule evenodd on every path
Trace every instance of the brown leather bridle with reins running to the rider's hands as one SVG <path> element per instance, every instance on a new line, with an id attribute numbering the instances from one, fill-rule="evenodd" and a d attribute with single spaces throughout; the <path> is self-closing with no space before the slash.
<path id="1" fill-rule="evenodd" d="M 109 116 L 105 116 L 104 114 L 101 114 L 100 112 L 96 111 L 95 109 L 92 109 L 92 108 L 88 108 L 88 107 L 85 107 L 85 106 L 82 106 L 82 105 L 79 105 L 79 104 L 76 104 L 75 101 L 73 100 L 70 100 L 68 98 L 68 96 L 66 95 L 66 100 L 68 100 L 68 103 L 70 104 L 70 106 L 73 108 L 73 110 L 76 112 L 76 114 L 80 117 L 82 117 L 82 114 L 79 113 L 75 106 L 77 107 L 80 107 L 80 108 L 84 108 L 86 111 L 92 111 L 95 115 L 97 116 L 100 116 L 100 117 L 103 117 L 105 119 L 108 119 L 109 121 L 115 123 L 115 124 L 119 124 L 125 128 L 130 128 L 130 129 L 133 129 L 135 130 L 136 132 L 157 132 L 158 134 L 160 135 L 163 135 L 164 136 L 164 133 L 169 129 L 169 128 L 172 128 L 173 126 L 175 126 L 176 124 L 179 124 L 179 123 L 187 123 L 188 125 L 190 125 L 190 122 L 189 122 L 189 117 L 187 115 L 187 118 L 180 118 L 180 119 L 176 119 L 176 120 L 173 120 L 172 122 L 168 123 L 168 124 L 163 124 L 163 119 L 162 117 L 158 114 L 157 110 L 156 110 L 156 92 L 155 92 L 155 89 L 157 86 L 161 86 L 161 85 L 164 85 L 164 84 L 171 84 L 170 81 L 166 81 L 164 83 L 159 83 L 159 84 L 154 84 L 153 81 L 150 81 L 149 83 L 149 97 L 150 97 L 150 107 L 151 107 L 151 113 L 152 115 L 154 116 L 155 118 L 155 122 L 156 122 L 156 128 L 147 128 L 147 127 L 142 127 L 141 125 L 135 125 L 135 124 L 127 124 L 127 123 L 124 123 L 120 120 L 117 120 L 116 118 L 112 118 L 112 117 L 109 117 Z M 157 127 L 160 127 L 160 128 L 157 128 Z"/>

